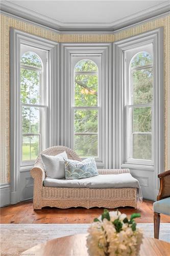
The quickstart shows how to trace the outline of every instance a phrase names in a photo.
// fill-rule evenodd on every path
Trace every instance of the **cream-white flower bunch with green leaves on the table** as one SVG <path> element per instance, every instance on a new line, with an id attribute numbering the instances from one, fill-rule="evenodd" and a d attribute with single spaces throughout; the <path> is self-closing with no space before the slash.
<path id="1" fill-rule="evenodd" d="M 135 256 L 142 243 L 142 230 L 136 228 L 135 218 L 140 214 L 132 214 L 128 220 L 126 214 L 104 210 L 95 218 L 88 229 L 87 248 L 90 256 Z"/>

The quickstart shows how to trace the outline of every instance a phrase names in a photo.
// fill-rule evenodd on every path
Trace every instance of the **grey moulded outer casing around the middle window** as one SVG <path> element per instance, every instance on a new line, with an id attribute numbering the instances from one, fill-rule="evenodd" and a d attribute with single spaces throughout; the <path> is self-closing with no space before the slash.
<path id="1" fill-rule="evenodd" d="M 113 83 L 112 83 L 112 44 L 82 43 L 61 44 L 60 77 L 60 145 L 72 148 L 71 117 L 71 56 L 101 55 L 102 59 L 102 120 L 101 120 L 101 159 L 96 159 L 98 168 L 113 168 Z M 109 143 L 107 138 L 109 138 Z"/>

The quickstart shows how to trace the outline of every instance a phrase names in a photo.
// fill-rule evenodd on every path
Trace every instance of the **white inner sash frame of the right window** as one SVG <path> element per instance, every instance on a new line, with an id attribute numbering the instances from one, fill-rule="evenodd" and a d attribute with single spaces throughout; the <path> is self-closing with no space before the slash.
<path id="1" fill-rule="evenodd" d="M 147 164 L 147 165 L 154 165 L 154 95 L 153 95 L 153 101 L 151 103 L 143 103 L 143 104 L 133 104 L 132 103 L 132 76 L 131 76 L 131 70 L 136 69 L 144 69 L 144 68 L 154 68 L 153 63 L 152 65 L 147 66 L 140 66 L 139 68 L 130 68 L 130 64 L 132 59 L 140 52 L 148 52 L 153 59 L 153 44 L 150 45 L 142 45 L 141 47 L 134 48 L 132 50 L 128 50 L 124 52 L 124 66 L 125 66 L 125 78 L 124 78 L 124 108 L 125 108 L 125 133 L 126 133 L 126 142 L 125 142 L 125 162 L 127 163 L 140 163 L 140 164 Z M 154 82 L 155 82 L 155 76 L 153 74 L 153 88 L 154 88 Z M 152 136 L 152 159 L 134 159 L 132 157 L 133 155 L 133 124 L 132 124 L 132 110 L 133 108 L 141 108 L 141 107 L 147 107 L 150 106 L 152 110 L 152 120 L 151 120 L 151 126 L 152 131 L 145 134 L 151 134 Z M 130 111 L 131 109 L 131 111 Z M 140 134 L 137 132 L 136 134 Z M 142 133 L 144 134 L 144 133 Z"/>

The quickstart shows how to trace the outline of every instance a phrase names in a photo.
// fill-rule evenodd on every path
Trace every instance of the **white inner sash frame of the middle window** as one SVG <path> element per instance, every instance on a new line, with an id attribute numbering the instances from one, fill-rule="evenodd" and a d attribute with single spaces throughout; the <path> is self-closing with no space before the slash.
<path id="1" fill-rule="evenodd" d="M 98 156 L 95 157 L 96 161 L 102 159 L 102 56 L 101 54 L 71 54 L 71 148 L 74 148 L 74 111 L 75 110 L 98 110 Z M 75 106 L 75 95 L 74 95 L 74 77 L 75 77 L 75 66 L 80 60 L 89 59 L 98 66 L 98 105 L 97 106 Z M 81 72 L 83 73 L 83 72 Z M 93 72 L 90 72 L 90 74 Z M 95 72 L 96 73 L 96 72 Z M 87 72 L 85 72 L 87 74 Z M 89 133 L 91 134 L 91 133 Z M 86 157 L 82 158 L 85 159 Z"/>

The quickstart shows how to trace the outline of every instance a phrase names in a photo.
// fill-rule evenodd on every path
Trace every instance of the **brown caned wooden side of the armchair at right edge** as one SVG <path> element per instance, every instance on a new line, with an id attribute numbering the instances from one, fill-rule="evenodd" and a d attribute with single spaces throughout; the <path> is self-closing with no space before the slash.
<path id="1" fill-rule="evenodd" d="M 166 170 L 165 172 L 158 174 L 158 178 L 160 180 L 160 187 L 157 201 L 170 197 L 170 170 Z"/>

